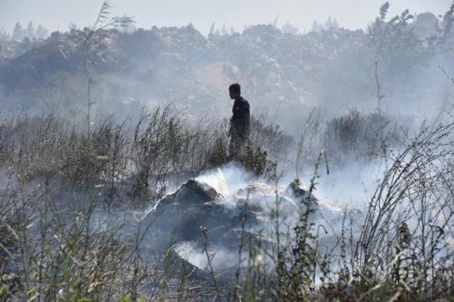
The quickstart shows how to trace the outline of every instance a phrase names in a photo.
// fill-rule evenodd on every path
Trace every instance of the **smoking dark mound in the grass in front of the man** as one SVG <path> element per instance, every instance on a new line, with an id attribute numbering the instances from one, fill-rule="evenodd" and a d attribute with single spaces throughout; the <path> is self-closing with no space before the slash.
<path id="1" fill-rule="evenodd" d="M 307 198 L 314 202 L 315 210 L 309 219 L 316 225 L 325 225 L 328 230 L 328 234 L 321 232 L 318 247 L 333 248 L 336 241 L 332 229 L 342 226 L 346 212 L 319 202 L 298 179 L 286 190 L 254 182 L 225 197 L 207 183 L 187 181 L 163 198 L 142 220 L 142 225 L 148 229 L 145 243 L 158 253 L 159 249 L 168 252 L 169 247 L 174 247 L 178 257 L 205 269 L 206 257 L 200 240 L 200 226 L 203 226 L 207 229 L 208 248 L 217 254 L 214 266 L 223 273 L 230 272 L 237 263 L 235 257 L 242 238 L 244 253 L 250 244 L 272 248 L 273 236 L 268 232 L 272 232 L 270 223 L 277 217 L 276 201 L 279 201 L 282 232 L 286 232 L 286 227 L 291 231 L 298 221 Z M 360 213 L 352 215 L 356 214 Z"/>

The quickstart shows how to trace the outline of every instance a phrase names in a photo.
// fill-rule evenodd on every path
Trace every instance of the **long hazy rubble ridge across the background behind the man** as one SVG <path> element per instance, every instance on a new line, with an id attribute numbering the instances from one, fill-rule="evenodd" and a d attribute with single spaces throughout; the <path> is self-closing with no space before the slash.
<path id="1" fill-rule="evenodd" d="M 415 31 L 427 34 L 432 17 L 421 15 Z M 29 41 L 29 51 L 26 45 L 3 43 L 0 88 L 22 104 L 33 99 L 35 106 L 64 102 L 85 108 L 88 76 L 92 95 L 107 111 L 134 100 L 148 106 L 174 103 L 189 114 L 228 114 L 231 82 L 242 83 L 244 94 L 257 100 L 258 112 L 279 112 L 288 123 L 298 123 L 295 112 L 314 105 L 373 106 L 376 98 L 375 54 L 363 30 L 332 27 L 295 34 L 256 25 L 205 37 L 192 24 L 133 33 L 98 30 L 92 36 L 85 28 Z M 383 78 L 382 86 L 393 85 Z"/>

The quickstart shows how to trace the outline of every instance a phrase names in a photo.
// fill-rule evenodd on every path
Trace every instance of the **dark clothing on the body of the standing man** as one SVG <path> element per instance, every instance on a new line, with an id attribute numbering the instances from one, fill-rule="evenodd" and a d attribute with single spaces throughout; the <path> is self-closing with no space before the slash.
<path id="1" fill-rule="evenodd" d="M 234 138 L 245 141 L 249 137 L 251 114 L 249 103 L 243 97 L 235 100 L 232 108 L 233 116 L 230 119 L 230 135 Z"/>

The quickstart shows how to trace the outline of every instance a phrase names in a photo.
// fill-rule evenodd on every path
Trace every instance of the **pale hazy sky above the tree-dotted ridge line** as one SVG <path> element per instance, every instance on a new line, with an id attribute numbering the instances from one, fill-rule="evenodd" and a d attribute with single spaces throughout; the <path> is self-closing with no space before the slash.
<path id="1" fill-rule="evenodd" d="M 314 20 L 335 17 L 342 27 L 365 28 L 378 15 L 386 0 L 111 0 L 114 15 L 135 17 L 137 27 L 153 25 L 184 26 L 191 22 L 207 33 L 211 24 L 235 27 L 272 22 L 277 25 L 290 20 L 303 31 L 310 29 Z M 69 22 L 79 27 L 92 24 L 103 0 L 0 0 L 0 29 L 13 31 L 15 22 L 42 23 L 51 30 L 66 30 Z M 432 11 L 440 15 L 448 10 L 453 0 L 390 0 L 390 13 L 405 8 L 411 13 Z"/>

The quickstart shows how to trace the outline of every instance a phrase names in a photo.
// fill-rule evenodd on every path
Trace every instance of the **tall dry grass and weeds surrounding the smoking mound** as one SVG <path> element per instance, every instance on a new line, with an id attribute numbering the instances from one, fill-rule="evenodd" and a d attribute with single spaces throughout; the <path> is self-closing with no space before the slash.
<path id="1" fill-rule="evenodd" d="M 281 155 L 285 138 L 279 129 L 257 124 L 255 146 Z M 189 178 L 224 163 L 224 124 L 190 126 L 169 108 L 144 111 L 135 125 L 106 118 L 89 134 L 56 116 L 5 121 L 0 301 L 452 298 L 453 128 L 452 123 L 424 128 L 399 152 L 386 154 L 388 169 L 364 220 L 346 215 L 335 248 L 318 248 L 319 232 L 330 225 L 314 225 L 317 201 L 304 198 L 300 219 L 290 229 L 272 223 L 271 246 L 243 229 L 235 280 L 213 284 L 210 274 L 217 280 L 219 272 L 193 275 L 171 244 L 160 248 L 163 254 L 144 246 L 152 223 L 116 220 L 115 213 L 157 202 L 171 181 L 179 181 L 175 176 Z M 278 143 L 267 149 L 270 142 Z M 321 153 L 309 192 L 324 164 Z M 272 221 L 279 221 L 279 198 Z M 210 242 L 202 239 L 207 251 Z"/>

